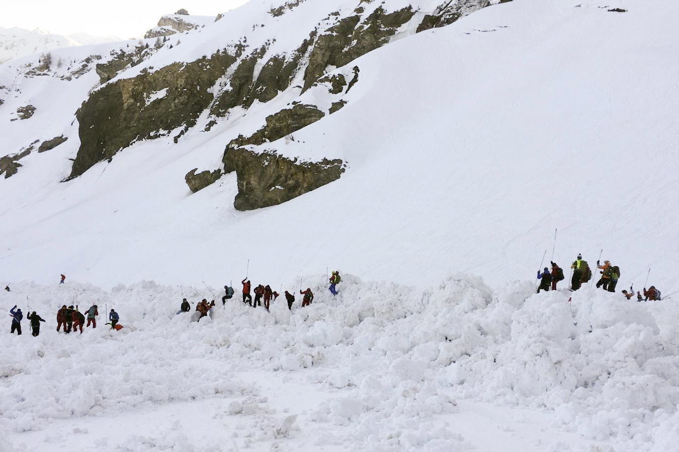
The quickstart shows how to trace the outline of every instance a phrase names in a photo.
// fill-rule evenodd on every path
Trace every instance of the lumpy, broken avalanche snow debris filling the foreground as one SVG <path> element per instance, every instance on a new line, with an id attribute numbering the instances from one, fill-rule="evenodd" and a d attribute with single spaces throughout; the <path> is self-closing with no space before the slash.
<path id="1" fill-rule="evenodd" d="M 17 451 L 674 448 L 672 300 L 349 274 L 335 299 L 323 279 L 303 278 L 309 308 L 279 298 L 268 314 L 234 298 L 199 323 L 175 312 L 181 297 L 212 297 L 206 287 L 12 285 L 1 306 L 47 323 L 37 339 L 0 336 L 3 438 Z M 54 331 L 53 313 L 78 302 L 98 304 L 98 327 Z M 121 331 L 103 325 L 110 308 Z"/>

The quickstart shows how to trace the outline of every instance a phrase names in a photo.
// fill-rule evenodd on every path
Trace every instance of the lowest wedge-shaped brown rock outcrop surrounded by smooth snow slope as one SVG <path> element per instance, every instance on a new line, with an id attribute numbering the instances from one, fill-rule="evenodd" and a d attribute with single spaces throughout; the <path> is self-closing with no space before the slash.
<path id="1" fill-rule="evenodd" d="M 229 153 L 238 175 L 234 207 L 252 210 L 278 205 L 339 179 L 341 160 L 298 163 L 278 155 L 256 154 L 244 148 Z"/>

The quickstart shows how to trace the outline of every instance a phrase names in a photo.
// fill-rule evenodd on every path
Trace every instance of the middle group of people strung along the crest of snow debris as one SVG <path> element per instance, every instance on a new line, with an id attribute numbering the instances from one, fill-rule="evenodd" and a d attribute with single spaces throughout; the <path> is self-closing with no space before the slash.
<path id="1" fill-rule="evenodd" d="M 329 291 L 333 295 L 337 295 L 337 284 L 339 284 L 339 281 L 342 281 L 341 276 L 339 276 L 339 271 L 333 271 L 332 276 L 330 277 L 330 287 Z M 262 300 L 264 302 L 264 308 L 269 311 L 269 308 L 271 307 L 271 302 L 276 301 L 276 298 L 280 296 L 280 293 L 274 291 L 271 289 L 270 285 L 257 285 L 255 287 L 254 292 L 255 292 L 255 299 L 253 300 L 253 297 L 251 295 L 251 292 L 253 291 L 252 289 L 252 283 L 249 279 L 244 278 L 243 281 L 240 281 L 240 283 L 243 285 L 242 289 L 242 295 L 243 295 L 243 303 L 249 304 L 249 306 L 252 306 L 253 308 L 257 308 L 257 306 L 262 306 Z M 234 297 L 234 288 L 225 285 L 224 286 L 224 296 L 221 297 L 221 303 L 222 305 L 226 304 L 226 300 L 231 300 Z M 301 306 L 304 308 L 305 306 L 309 306 L 312 304 L 314 301 L 314 293 L 312 292 L 310 287 L 307 287 L 306 290 L 301 290 L 299 289 L 299 294 L 304 295 L 304 298 L 302 298 Z M 285 300 L 288 303 L 288 309 L 292 310 L 293 309 L 293 303 L 295 302 L 295 295 L 290 293 L 289 291 L 285 291 Z M 206 298 L 203 298 L 198 304 L 196 304 L 196 311 L 200 312 L 200 317 L 198 318 L 198 321 L 202 319 L 203 317 L 208 315 L 208 312 L 210 309 L 215 306 L 215 300 L 212 300 L 212 302 L 208 302 Z M 191 310 L 191 304 L 184 298 L 181 301 L 181 308 L 177 314 L 181 312 L 189 312 Z"/>

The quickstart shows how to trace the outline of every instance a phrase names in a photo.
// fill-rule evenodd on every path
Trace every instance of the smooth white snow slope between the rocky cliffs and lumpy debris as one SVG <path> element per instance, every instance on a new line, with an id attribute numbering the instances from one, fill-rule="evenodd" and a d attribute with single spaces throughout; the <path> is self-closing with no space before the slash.
<path id="1" fill-rule="evenodd" d="M 234 173 L 191 196 L 178 181 L 218 167 L 233 133 L 261 127 L 299 91 L 177 144 L 136 143 L 68 184 L 55 181 L 68 173 L 75 138 L 30 155 L 0 186 L 24 200 L 3 206 L 12 218 L 1 226 L 3 274 L 217 285 L 244 276 L 249 258 L 251 274 L 274 279 L 329 265 L 412 284 L 458 269 L 499 283 L 530 278 L 558 228 L 562 266 L 579 252 L 593 264 L 604 248 L 602 259 L 622 269 L 620 289 L 641 289 L 652 267 L 648 285 L 669 293 L 677 67 L 665 18 L 676 6 L 576 5 L 497 5 L 338 69 L 361 68 L 342 110 L 257 149 L 338 158 L 348 169 L 277 207 L 234 210 Z M 193 52 L 184 44 L 172 49 L 180 57 Z M 319 89 L 299 101 L 316 102 Z"/>

